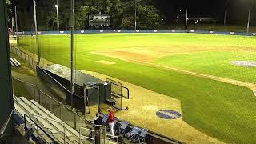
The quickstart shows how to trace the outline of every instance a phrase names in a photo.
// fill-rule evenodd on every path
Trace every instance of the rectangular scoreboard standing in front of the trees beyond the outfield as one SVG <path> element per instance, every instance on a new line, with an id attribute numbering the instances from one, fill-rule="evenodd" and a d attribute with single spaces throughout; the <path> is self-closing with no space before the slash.
<path id="1" fill-rule="evenodd" d="M 110 16 L 89 15 L 89 26 L 110 26 Z"/>

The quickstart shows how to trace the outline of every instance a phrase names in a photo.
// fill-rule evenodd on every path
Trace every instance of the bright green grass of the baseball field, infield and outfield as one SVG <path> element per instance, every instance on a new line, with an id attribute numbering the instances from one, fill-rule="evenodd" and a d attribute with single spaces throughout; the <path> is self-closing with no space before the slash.
<path id="1" fill-rule="evenodd" d="M 20 40 L 27 50 L 36 52 L 35 38 Z M 252 90 L 179 74 L 161 68 L 122 61 L 91 51 L 120 48 L 158 49 L 169 47 L 214 47 L 221 51 L 195 51 L 155 59 L 165 66 L 175 66 L 219 77 L 255 82 L 253 68 L 230 66 L 230 60 L 255 60 L 256 38 L 211 34 L 78 34 L 75 35 L 78 70 L 96 71 L 138 86 L 178 98 L 183 120 L 198 130 L 224 142 L 256 142 L 256 97 Z M 42 57 L 70 66 L 70 38 L 66 35 L 41 35 Z M 225 50 L 222 50 L 225 49 Z M 240 50 L 246 49 L 246 50 Z M 96 61 L 107 60 L 114 65 Z M 156 123 L 157 124 L 157 123 Z"/>

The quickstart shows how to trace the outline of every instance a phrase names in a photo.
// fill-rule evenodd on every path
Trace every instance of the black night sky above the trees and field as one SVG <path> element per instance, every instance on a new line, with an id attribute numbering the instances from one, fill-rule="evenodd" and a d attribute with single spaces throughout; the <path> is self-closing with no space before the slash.
<path id="1" fill-rule="evenodd" d="M 37 0 L 44 1 L 44 0 Z M 81 0 L 74 0 L 78 2 Z M 194 15 L 215 15 L 218 22 L 222 22 L 225 13 L 225 5 L 227 2 L 227 23 L 236 25 L 246 25 L 249 0 L 154 0 L 156 6 L 163 14 L 166 15 L 166 22 L 173 23 L 177 17 L 178 11 L 180 14 L 185 14 L 186 9 L 189 11 L 189 18 Z M 32 0 L 18 1 L 18 6 L 31 7 Z M 256 26 L 256 0 L 251 0 L 251 25 Z"/>

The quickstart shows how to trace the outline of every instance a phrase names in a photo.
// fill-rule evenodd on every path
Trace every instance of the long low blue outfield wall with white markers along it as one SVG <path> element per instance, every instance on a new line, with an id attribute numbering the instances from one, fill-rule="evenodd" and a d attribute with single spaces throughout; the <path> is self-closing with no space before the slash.
<path id="1" fill-rule="evenodd" d="M 204 31 L 204 30 L 75 30 L 74 34 L 118 34 L 118 33 L 195 33 L 195 34 L 226 34 L 256 36 L 256 33 L 232 32 L 232 31 Z M 34 32 L 18 32 L 20 35 L 32 35 Z M 70 34 L 70 31 L 38 31 L 38 34 Z"/>

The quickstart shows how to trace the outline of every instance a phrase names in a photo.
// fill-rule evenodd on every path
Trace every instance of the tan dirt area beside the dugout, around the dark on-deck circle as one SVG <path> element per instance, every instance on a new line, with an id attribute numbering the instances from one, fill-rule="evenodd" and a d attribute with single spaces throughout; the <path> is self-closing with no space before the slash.
<path id="1" fill-rule="evenodd" d="M 83 72 L 94 75 L 102 80 L 111 78 L 96 72 Z M 198 131 L 184 122 L 182 118 L 166 120 L 156 116 L 158 110 L 175 110 L 182 113 L 181 102 L 178 99 L 158 94 L 152 90 L 147 90 L 116 78 L 111 79 L 122 82 L 123 86 L 129 87 L 130 89 L 130 99 L 123 100 L 123 105 L 128 106 L 129 110 L 120 110 L 116 112 L 116 116 L 119 119 L 128 120 L 134 125 L 145 127 L 158 134 L 166 135 L 167 137 L 175 138 L 186 143 L 222 143 L 218 141 L 218 139 Z M 94 114 L 97 110 L 97 106 L 92 106 L 90 109 L 94 109 L 91 110 L 91 114 Z M 107 113 L 106 110 L 102 111 L 105 114 Z"/>

